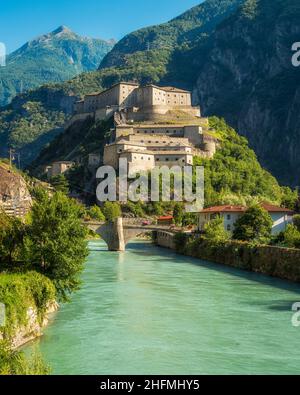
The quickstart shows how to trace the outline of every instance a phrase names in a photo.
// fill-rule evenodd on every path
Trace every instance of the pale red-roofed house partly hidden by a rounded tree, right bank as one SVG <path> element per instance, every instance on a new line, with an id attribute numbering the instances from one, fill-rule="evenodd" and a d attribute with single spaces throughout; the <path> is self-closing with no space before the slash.
<path id="1" fill-rule="evenodd" d="M 293 221 L 293 211 L 274 206 L 268 203 L 262 203 L 261 207 L 264 208 L 273 220 L 272 234 L 276 235 L 285 231 L 288 224 Z M 234 231 L 236 221 L 245 213 L 247 207 L 245 206 L 215 206 L 209 207 L 198 213 L 198 230 L 203 231 L 205 225 L 211 220 L 221 217 L 224 220 L 224 228 L 228 232 Z"/>

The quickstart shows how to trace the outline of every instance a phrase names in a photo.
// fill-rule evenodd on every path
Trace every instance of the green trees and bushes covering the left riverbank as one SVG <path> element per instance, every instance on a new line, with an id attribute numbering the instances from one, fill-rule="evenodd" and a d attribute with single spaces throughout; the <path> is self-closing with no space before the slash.
<path id="1" fill-rule="evenodd" d="M 13 352 L 12 342 L 23 332 L 26 337 L 27 328 L 42 328 L 51 304 L 67 301 L 79 288 L 88 254 L 82 206 L 62 192 L 50 196 L 42 188 L 33 189 L 32 197 L 33 207 L 24 220 L 0 212 L 0 303 L 6 314 L 0 327 L 3 374 L 47 373 L 38 356 L 28 362 L 22 353 Z"/>

